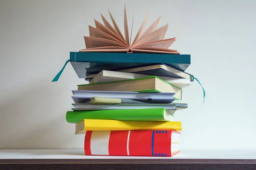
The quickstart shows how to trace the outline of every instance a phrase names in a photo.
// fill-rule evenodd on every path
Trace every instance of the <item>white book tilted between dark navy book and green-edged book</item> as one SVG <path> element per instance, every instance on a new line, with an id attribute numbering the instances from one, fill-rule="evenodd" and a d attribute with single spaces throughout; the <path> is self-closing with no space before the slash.
<path id="1" fill-rule="evenodd" d="M 149 76 L 151 75 L 102 70 L 101 72 L 99 72 L 99 74 L 90 75 L 90 77 L 93 77 L 93 79 L 90 80 L 89 84 L 100 83 L 100 82 L 115 82 L 115 81 L 137 79 L 137 78 L 143 78 L 143 77 L 149 77 Z M 189 79 L 161 77 L 161 76 L 157 76 L 157 77 L 179 88 L 185 88 L 190 85 Z"/>

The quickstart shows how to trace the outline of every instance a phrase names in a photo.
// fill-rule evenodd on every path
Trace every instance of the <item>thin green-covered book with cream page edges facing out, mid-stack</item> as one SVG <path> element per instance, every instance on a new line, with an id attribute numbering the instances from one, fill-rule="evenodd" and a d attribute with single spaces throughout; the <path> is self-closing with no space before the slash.
<path id="1" fill-rule="evenodd" d="M 176 100 L 182 99 L 182 89 L 157 76 L 128 79 L 115 82 L 101 82 L 77 85 L 79 91 L 137 91 L 175 93 Z"/>

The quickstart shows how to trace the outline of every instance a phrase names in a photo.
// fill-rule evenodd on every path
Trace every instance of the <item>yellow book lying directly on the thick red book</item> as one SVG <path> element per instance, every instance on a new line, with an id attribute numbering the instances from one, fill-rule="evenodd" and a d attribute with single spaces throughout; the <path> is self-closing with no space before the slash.
<path id="1" fill-rule="evenodd" d="M 181 131 L 181 122 L 128 121 L 83 119 L 76 125 L 76 134 L 86 130 L 176 130 Z"/>

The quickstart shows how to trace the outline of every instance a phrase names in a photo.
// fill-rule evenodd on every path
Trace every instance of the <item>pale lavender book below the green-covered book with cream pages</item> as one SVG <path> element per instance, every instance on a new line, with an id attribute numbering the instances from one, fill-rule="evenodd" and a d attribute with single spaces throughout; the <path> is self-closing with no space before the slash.
<path id="1" fill-rule="evenodd" d="M 73 90 L 72 99 L 75 103 L 83 103 L 92 97 L 109 97 L 132 99 L 136 101 L 171 103 L 175 93 L 128 92 L 128 91 L 77 91 Z M 134 101 L 135 102 L 135 101 Z"/>

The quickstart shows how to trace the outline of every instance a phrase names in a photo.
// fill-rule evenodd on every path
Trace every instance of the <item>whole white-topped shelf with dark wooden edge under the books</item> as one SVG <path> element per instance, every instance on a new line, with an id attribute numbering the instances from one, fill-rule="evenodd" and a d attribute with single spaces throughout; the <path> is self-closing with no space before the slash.
<path id="1" fill-rule="evenodd" d="M 0 150 L 0 170 L 256 170 L 255 150 L 184 150 L 166 158 L 83 154 L 83 150 Z"/>

